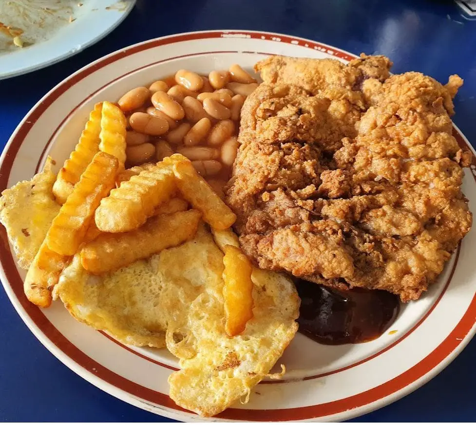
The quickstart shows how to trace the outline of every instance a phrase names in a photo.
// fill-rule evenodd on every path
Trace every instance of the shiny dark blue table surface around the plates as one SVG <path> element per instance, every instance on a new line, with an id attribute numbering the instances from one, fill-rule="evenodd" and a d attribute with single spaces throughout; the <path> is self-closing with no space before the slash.
<path id="1" fill-rule="evenodd" d="M 249 29 L 291 34 L 349 52 L 383 54 L 394 73 L 420 71 L 464 86 L 454 121 L 476 142 L 476 21 L 453 1 L 138 0 L 108 37 L 49 68 L 0 81 L 0 144 L 38 99 L 89 62 L 130 44 L 187 31 Z M 1 59 L 0 59 L 1 61 Z M 0 62 L 1 65 L 1 62 Z M 160 421 L 95 388 L 47 351 L 0 290 L 0 421 Z M 476 420 L 476 340 L 424 387 L 356 421 Z"/>

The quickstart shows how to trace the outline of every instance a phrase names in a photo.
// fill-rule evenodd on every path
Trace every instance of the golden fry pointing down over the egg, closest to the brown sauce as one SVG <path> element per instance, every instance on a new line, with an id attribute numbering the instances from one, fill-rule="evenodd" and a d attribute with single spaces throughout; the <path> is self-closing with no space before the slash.
<path id="1" fill-rule="evenodd" d="M 225 331 L 228 336 L 242 333 L 253 317 L 253 267 L 240 248 L 225 245 L 223 264 L 223 298 L 225 307 Z"/>

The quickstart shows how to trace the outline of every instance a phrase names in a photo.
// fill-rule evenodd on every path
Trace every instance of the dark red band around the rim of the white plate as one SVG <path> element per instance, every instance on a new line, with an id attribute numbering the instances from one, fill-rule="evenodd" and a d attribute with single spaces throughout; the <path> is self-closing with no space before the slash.
<path id="1" fill-rule="evenodd" d="M 285 36 L 280 34 L 250 32 L 250 31 L 206 31 L 206 32 L 199 32 L 199 33 L 186 33 L 186 34 L 174 35 L 170 37 L 162 37 L 162 38 L 154 39 L 151 41 L 146 41 L 146 42 L 131 46 L 129 48 L 120 50 L 102 59 L 97 60 L 93 64 L 81 69 L 76 74 L 73 74 L 71 77 L 69 77 L 68 79 L 66 79 L 59 85 L 57 85 L 57 87 L 55 87 L 52 91 L 50 91 L 45 97 L 43 97 L 43 99 L 41 99 L 41 101 L 38 102 L 38 104 L 28 113 L 28 115 L 20 123 L 19 127 L 15 130 L 14 134 L 10 138 L 9 143 L 7 144 L 6 148 L 4 149 L 2 153 L 2 161 L 0 165 L 0 190 L 3 190 L 7 187 L 8 180 L 10 177 L 10 172 L 11 172 L 15 157 L 24 139 L 26 138 L 28 133 L 31 131 L 33 125 L 61 94 L 66 92 L 69 88 L 74 86 L 76 83 L 86 78 L 88 75 L 95 73 L 96 71 L 105 67 L 106 65 L 114 63 L 114 61 L 117 61 L 119 59 L 122 59 L 129 55 L 133 55 L 138 52 L 143 52 L 158 46 L 164 46 L 167 44 L 176 43 L 180 41 L 190 41 L 190 40 L 199 40 L 199 39 L 207 39 L 207 38 L 221 38 L 221 37 L 247 37 L 247 38 L 273 40 L 276 42 L 289 43 L 289 44 L 295 44 L 295 45 L 297 44 L 309 49 L 320 50 L 329 55 L 333 55 L 345 60 L 351 60 L 354 57 L 357 57 L 355 55 L 336 49 L 334 47 L 327 46 L 321 43 L 316 43 L 314 41 L 299 38 L 299 37 L 290 37 L 290 36 Z M 232 53 L 232 52 L 229 52 L 229 53 Z M 249 53 L 255 53 L 255 52 L 249 52 Z M 118 78 L 122 78 L 122 76 Z M 110 82 L 109 84 L 111 83 L 112 82 Z M 53 132 L 50 138 L 50 141 L 48 141 L 47 145 L 45 146 L 43 153 L 46 151 L 48 145 L 50 144 L 51 140 L 53 139 L 57 130 L 61 127 L 63 122 L 66 121 L 67 118 L 72 113 L 74 113 L 79 106 L 80 105 L 77 105 L 77 107 L 74 110 L 70 111 L 67 117 L 60 123 L 57 129 Z M 461 147 L 471 149 L 471 146 L 469 145 L 467 140 L 464 138 L 464 136 L 460 133 L 460 131 L 456 127 L 454 129 L 454 135 L 457 138 L 457 141 Z M 41 163 L 41 158 L 38 161 L 37 170 L 39 168 L 40 163 Z M 475 158 L 473 158 L 473 165 L 476 166 Z M 473 177 L 475 178 L 475 182 L 476 182 L 476 177 L 474 174 L 473 174 Z M 46 316 L 42 313 L 42 311 L 39 308 L 37 308 L 36 306 L 34 306 L 33 304 L 27 301 L 26 297 L 23 294 L 23 281 L 16 268 L 15 260 L 14 260 L 12 251 L 10 249 L 10 246 L 8 244 L 5 229 L 3 227 L 1 227 L 0 235 L 2 236 L 2 239 L 3 239 L 3 244 L 1 244 L 0 246 L 0 263 L 4 273 L 3 284 L 5 286 L 7 294 L 9 295 L 12 303 L 15 305 L 15 307 L 17 308 L 17 311 L 19 312 L 20 316 L 22 316 L 22 318 L 25 320 L 25 322 L 27 322 L 27 320 L 25 319 L 24 314 L 26 314 L 27 319 L 29 319 L 30 321 L 34 323 L 34 325 L 36 325 L 38 329 L 34 329 L 34 327 L 30 326 L 30 324 L 27 322 L 27 325 L 36 334 L 36 336 L 40 340 L 42 340 L 42 342 L 43 342 L 42 336 L 49 339 L 51 344 L 53 344 L 58 351 L 64 353 L 72 362 L 74 362 L 76 367 L 72 367 L 71 364 L 66 363 L 67 366 L 69 366 L 70 368 L 72 368 L 79 374 L 81 374 L 78 371 L 80 369 L 89 371 L 90 373 L 94 374 L 96 378 L 99 378 L 104 383 L 110 384 L 115 388 L 123 390 L 134 398 L 139 398 L 147 402 L 154 403 L 169 409 L 188 412 L 187 410 L 177 407 L 167 394 L 154 391 L 150 388 L 145 388 L 105 368 L 104 366 L 97 363 L 92 358 L 88 357 L 85 353 L 80 351 L 65 336 L 63 336 L 53 326 L 53 324 L 46 318 Z M 457 257 L 458 256 L 459 256 L 459 248 L 457 251 Z M 457 258 L 455 260 L 454 268 L 451 272 L 451 276 L 453 276 L 453 272 L 455 271 L 456 265 L 457 265 Z M 451 279 L 451 276 L 450 276 L 450 279 Z M 11 291 L 9 291 L 9 289 L 7 288 L 8 285 L 10 285 Z M 447 282 L 446 287 L 448 285 L 449 285 L 449 280 Z M 419 321 L 419 323 L 409 333 L 413 332 L 413 330 L 415 330 L 426 319 L 426 317 L 433 311 L 433 309 L 436 307 L 439 300 L 443 296 L 446 290 L 446 287 L 443 290 L 443 292 L 440 294 L 440 296 L 438 297 L 435 304 L 431 307 L 431 309 L 426 313 L 426 315 Z M 24 312 L 22 312 L 21 309 L 18 307 L 17 303 L 14 300 L 14 297 L 17 298 Z M 355 394 L 353 396 L 346 397 L 340 400 L 335 400 L 329 403 L 324 403 L 324 404 L 319 404 L 314 406 L 307 406 L 307 407 L 266 409 L 266 410 L 230 408 L 226 410 L 225 412 L 223 412 L 222 414 L 218 415 L 218 417 L 223 419 L 251 420 L 251 421 L 296 421 L 296 420 L 305 420 L 305 419 L 312 419 L 312 418 L 323 418 L 325 416 L 330 416 L 333 414 L 341 413 L 341 412 L 356 409 L 356 408 L 361 408 L 361 409 L 359 409 L 359 411 L 357 411 L 355 415 L 349 415 L 349 417 L 366 413 L 368 411 L 371 411 L 375 408 L 378 408 L 387 404 L 388 402 L 386 402 L 383 399 L 385 399 L 386 397 L 390 395 L 394 395 L 393 399 L 395 400 L 397 398 L 400 398 L 408 394 L 409 392 L 418 388 L 424 382 L 429 380 L 431 377 L 436 375 L 440 370 L 442 370 L 444 366 L 446 366 L 446 364 L 443 364 L 442 362 L 445 359 L 449 361 L 453 360 L 456 357 L 457 353 L 461 351 L 464 348 L 464 346 L 469 342 L 469 340 L 471 339 L 470 337 L 475 333 L 475 323 L 476 323 L 475 318 L 476 318 L 476 296 L 472 299 L 468 309 L 462 315 L 462 318 L 460 319 L 457 326 L 444 339 L 444 341 L 441 344 L 439 344 L 439 346 L 434 351 L 428 354 L 423 360 L 419 361 L 419 363 L 415 364 L 410 369 L 401 373 L 399 376 L 375 388 L 371 388 L 359 394 Z M 398 344 L 409 333 L 402 336 L 398 341 L 386 347 L 384 350 L 363 360 L 362 362 L 359 362 L 358 364 L 361 364 L 367 360 L 370 360 L 371 358 L 374 358 L 380 355 L 383 351 L 389 350 L 390 348 Z M 42 334 L 42 335 L 38 335 L 38 334 Z M 127 347 L 124 347 L 124 348 L 127 349 Z M 137 354 L 135 351 L 133 352 Z M 55 351 L 53 351 L 53 353 L 57 355 Z M 63 359 L 61 358 L 60 360 L 63 361 Z M 160 362 L 156 362 L 156 363 L 161 366 L 168 367 L 166 365 L 161 364 Z M 344 369 L 348 369 L 353 366 L 356 366 L 356 364 L 351 365 Z M 170 369 L 170 367 L 168 368 Z M 341 370 L 337 370 L 337 371 L 341 371 Z M 335 373 L 335 372 L 332 372 L 332 373 Z M 311 376 L 306 379 L 312 379 L 315 377 L 325 376 L 328 374 L 329 373 L 318 375 L 318 376 Z M 92 382 L 92 383 L 95 384 L 95 382 Z M 101 385 L 97 385 L 97 386 L 101 389 L 105 389 L 104 386 L 101 386 Z M 113 395 L 116 395 L 117 397 L 121 398 L 120 395 L 116 393 L 113 393 Z M 166 412 L 164 412 L 163 414 L 166 414 Z"/>

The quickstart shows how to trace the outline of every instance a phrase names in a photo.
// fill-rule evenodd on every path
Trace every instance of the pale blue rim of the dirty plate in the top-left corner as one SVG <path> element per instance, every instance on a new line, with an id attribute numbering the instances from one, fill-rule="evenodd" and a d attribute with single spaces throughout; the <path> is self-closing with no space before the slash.
<path id="1" fill-rule="evenodd" d="M 76 55 L 114 30 L 132 10 L 135 1 L 83 0 L 83 5 L 77 7 L 72 16 L 75 20 L 58 28 L 46 40 L 21 49 L 0 51 L 0 80 Z"/>

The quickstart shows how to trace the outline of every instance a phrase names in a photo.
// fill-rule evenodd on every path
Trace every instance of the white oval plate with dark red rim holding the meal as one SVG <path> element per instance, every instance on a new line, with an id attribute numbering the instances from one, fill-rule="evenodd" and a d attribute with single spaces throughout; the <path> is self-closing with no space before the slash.
<path id="1" fill-rule="evenodd" d="M 0 189 L 29 179 L 47 154 L 57 166 L 74 148 L 93 105 L 180 68 L 200 73 L 232 63 L 251 68 L 269 54 L 335 57 L 353 55 L 298 37 L 249 31 L 207 31 L 158 38 L 108 55 L 49 92 L 28 113 L 1 156 Z M 455 129 L 462 146 L 469 143 Z M 465 170 L 463 191 L 476 205 L 476 165 Z M 4 232 L 3 228 L 2 231 Z M 5 234 L 3 233 L 5 240 Z M 471 231 L 445 271 L 418 302 L 403 306 L 396 333 L 358 345 L 323 346 L 298 334 L 286 350 L 282 381 L 263 382 L 247 405 L 237 403 L 221 420 L 342 421 L 408 394 L 447 366 L 475 333 L 476 232 Z M 18 313 L 59 360 L 95 386 L 134 406 L 190 421 L 197 415 L 169 398 L 167 377 L 177 362 L 165 350 L 125 347 L 76 322 L 56 302 L 46 310 L 23 295 L 22 278 L 6 244 L 0 246 L 1 277 Z M 213 419 L 211 419 L 213 420 Z"/>

